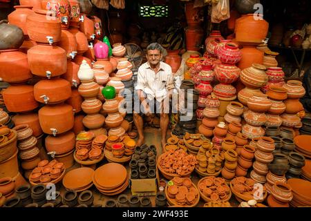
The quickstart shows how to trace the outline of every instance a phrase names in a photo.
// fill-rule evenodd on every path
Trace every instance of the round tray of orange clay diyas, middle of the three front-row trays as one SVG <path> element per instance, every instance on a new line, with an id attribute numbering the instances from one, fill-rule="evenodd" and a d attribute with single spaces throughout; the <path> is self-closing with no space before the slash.
<path id="1" fill-rule="evenodd" d="M 230 200 L 232 192 L 222 177 L 204 177 L 198 182 L 198 190 L 205 202 Z"/>

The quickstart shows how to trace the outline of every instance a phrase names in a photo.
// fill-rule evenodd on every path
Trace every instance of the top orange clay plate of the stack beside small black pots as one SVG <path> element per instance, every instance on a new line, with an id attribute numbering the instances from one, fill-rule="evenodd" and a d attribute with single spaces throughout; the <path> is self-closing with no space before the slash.
<path id="1" fill-rule="evenodd" d="M 120 186 L 126 180 L 126 168 L 117 163 L 108 163 L 100 166 L 95 173 L 94 179 L 100 186 L 111 189 Z"/>

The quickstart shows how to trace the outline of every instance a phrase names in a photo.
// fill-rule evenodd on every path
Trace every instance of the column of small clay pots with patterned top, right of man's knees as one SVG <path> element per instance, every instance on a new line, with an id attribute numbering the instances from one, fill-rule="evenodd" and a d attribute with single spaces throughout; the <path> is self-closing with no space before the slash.
<path id="1" fill-rule="evenodd" d="M 214 93 L 207 96 L 205 101 L 205 109 L 203 113 L 202 124 L 198 127 L 198 132 L 205 137 L 212 137 L 213 130 L 218 124 L 218 119 L 220 112 L 218 110 L 220 106 L 219 99 Z"/>

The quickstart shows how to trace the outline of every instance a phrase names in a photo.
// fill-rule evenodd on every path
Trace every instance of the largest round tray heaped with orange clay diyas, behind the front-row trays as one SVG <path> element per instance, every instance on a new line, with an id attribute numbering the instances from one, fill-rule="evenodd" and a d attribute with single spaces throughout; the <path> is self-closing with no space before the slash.
<path id="1" fill-rule="evenodd" d="M 167 180 L 173 177 L 189 177 L 197 163 L 194 155 L 189 155 L 182 149 L 162 153 L 157 160 L 158 169 Z"/>

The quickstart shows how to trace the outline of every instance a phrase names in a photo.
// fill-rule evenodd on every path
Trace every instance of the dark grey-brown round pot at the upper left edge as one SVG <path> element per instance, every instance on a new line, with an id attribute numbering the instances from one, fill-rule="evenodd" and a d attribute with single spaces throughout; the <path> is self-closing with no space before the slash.
<path id="1" fill-rule="evenodd" d="M 8 24 L 7 20 L 1 20 L 0 30 L 0 50 L 17 49 L 23 44 L 23 30 L 18 26 Z"/>

